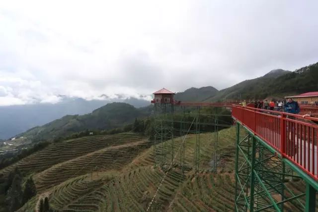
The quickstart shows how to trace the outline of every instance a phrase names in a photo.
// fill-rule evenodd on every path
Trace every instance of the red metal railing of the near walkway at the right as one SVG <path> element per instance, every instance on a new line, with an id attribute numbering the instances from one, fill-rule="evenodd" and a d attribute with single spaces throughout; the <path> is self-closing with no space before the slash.
<path id="1" fill-rule="evenodd" d="M 237 105 L 232 116 L 318 181 L 318 118 Z"/>

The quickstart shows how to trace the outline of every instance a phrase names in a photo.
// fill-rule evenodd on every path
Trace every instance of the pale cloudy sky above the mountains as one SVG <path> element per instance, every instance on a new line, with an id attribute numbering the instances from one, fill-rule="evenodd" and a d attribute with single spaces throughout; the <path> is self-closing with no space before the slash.
<path id="1" fill-rule="evenodd" d="M 224 89 L 318 62 L 317 0 L 0 2 L 0 106 Z"/>

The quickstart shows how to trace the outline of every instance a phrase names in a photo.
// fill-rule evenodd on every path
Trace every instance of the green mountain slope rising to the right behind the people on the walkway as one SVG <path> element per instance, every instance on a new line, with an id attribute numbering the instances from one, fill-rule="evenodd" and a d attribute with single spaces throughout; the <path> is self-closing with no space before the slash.
<path id="1" fill-rule="evenodd" d="M 207 101 L 226 99 L 264 99 L 268 96 L 283 98 L 318 90 L 318 63 L 296 71 L 273 70 L 262 77 L 242 81 L 232 87 L 220 90 Z"/>

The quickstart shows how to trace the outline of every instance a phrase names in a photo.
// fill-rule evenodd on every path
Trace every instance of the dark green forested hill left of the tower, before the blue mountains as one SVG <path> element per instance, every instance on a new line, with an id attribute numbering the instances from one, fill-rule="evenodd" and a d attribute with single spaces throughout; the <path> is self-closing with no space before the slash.
<path id="1" fill-rule="evenodd" d="M 18 136 L 31 141 L 53 141 L 85 130 L 110 130 L 132 123 L 137 117 L 150 114 L 148 108 L 135 108 L 127 103 L 109 103 L 85 115 L 67 115 L 61 119 L 32 128 Z"/>

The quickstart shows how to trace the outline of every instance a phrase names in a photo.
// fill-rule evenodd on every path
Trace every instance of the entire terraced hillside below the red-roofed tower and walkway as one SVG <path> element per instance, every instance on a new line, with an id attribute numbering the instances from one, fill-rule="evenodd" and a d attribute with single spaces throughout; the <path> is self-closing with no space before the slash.
<path id="1" fill-rule="evenodd" d="M 63 160 L 56 155 L 53 157 L 56 163 L 49 158 L 57 150 L 49 146 L 30 155 L 28 160 L 14 164 L 33 176 L 38 190 L 38 194 L 18 211 L 38 212 L 39 202 L 45 197 L 51 209 L 59 212 L 234 211 L 235 128 L 219 131 L 218 136 L 217 173 L 213 167 L 214 133 L 200 135 L 200 170 L 197 173 L 193 168 L 195 135 L 190 134 L 158 143 L 156 148 L 150 141 L 132 133 L 69 140 L 55 145 L 60 146 L 61 152 L 69 148 L 69 152 L 77 156 Z M 182 141 L 184 172 L 180 169 L 182 160 L 178 152 Z M 92 143 L 95 145 L 90 145 Z M 52 151 L 52 154 L 46 157 L 45 151 Z M 161 159 L 161 155 L 164 158 Z M 41 161 L 47 164 L 41 162 L 37 168 L 32 162 L 34 157 L 42 157 Z M 157 166 L 154 166 L 155 160 Z M 172 160 L 173 165 L 170 165 Z M 162 166 L 160 161 L 163 161 Z M 23 166 L 28 167 L 28 162 L 33 164 L 33 170 L 30 169 L 32 165 L 23 169 Z M 1 172 L 7 173 L 8 169 L 13 166 Z M 302 182 L 293 186 L 295 193 L 305 188 Z M 293 205 L 286 207 L 297 211 Z"/>

